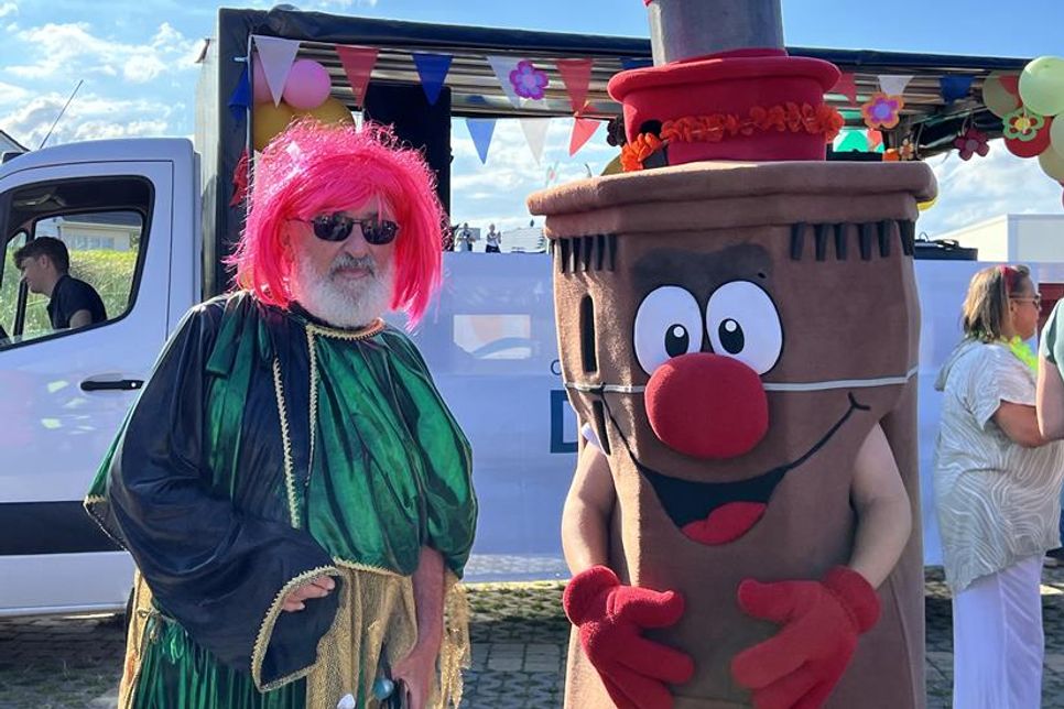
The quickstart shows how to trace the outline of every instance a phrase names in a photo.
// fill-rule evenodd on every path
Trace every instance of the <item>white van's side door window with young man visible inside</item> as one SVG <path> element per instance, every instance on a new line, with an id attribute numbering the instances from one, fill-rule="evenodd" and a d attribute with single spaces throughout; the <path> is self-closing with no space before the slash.
<path id="1" fill-rule="evenodd" d="M 123 317 L 140 281 L 152 197 L 141 177 L 108 177 L 28 185 L 0 201 L 10 205 L 3 223 L 11 232 L 0 272 L 0 348 L 74 334 L 84 313 L 90 314 L 85 327 Z M 33 265 L 23 277 L 14 258 L 20 249 L 58 249 L 70 280 L 57 283 Z M 70 318 L 69 310 L 83 314 Z"/>

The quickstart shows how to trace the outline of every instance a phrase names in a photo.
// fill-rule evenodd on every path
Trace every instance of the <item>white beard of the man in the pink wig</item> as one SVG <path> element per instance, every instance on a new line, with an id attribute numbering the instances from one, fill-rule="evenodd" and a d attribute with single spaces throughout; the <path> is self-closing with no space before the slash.
<path id="1" fill-rule="evenodd" d="M 374 266 L 358 281 L 341 281 L 332 270 L 318 273 L 308 262 L 301 261 L 295 276 L 292 294 L 311 315 L 336 327 L 362 327 L 388 312 L 394 269 L 389 261 L 383 269 Z"/>

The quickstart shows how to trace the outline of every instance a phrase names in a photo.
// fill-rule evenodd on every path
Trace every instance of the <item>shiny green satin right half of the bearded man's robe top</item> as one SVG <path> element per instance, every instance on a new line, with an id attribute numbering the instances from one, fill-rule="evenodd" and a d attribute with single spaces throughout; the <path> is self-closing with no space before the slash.
<path id="1" fill-rule="evenodd" d="M 308 332 L 311 533 L 340 561 L 404 576 L 430 546 L 460 576 L 477 519 L 469 444 L 424 361 L 393 329 L 358 342 Z"/>

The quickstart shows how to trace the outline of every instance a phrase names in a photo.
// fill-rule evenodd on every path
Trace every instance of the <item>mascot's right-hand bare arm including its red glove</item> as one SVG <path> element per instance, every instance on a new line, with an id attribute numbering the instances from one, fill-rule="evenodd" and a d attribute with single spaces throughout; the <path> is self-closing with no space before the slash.
<path id="1" fill-rule="evenodd" d="M 758 709 L 823 706 L 858 637 L 879 619 L 876 587 L 909 542 L 912 508 L 878 424 L 857 455 L 851 498 L 858 523 L 849 566 L 835 567 L 818 581 L 747 579 L 739 585 L 739 607 L 746 613 L 781 625 L 731 663 L 736 681 L 752 690 Z"/>

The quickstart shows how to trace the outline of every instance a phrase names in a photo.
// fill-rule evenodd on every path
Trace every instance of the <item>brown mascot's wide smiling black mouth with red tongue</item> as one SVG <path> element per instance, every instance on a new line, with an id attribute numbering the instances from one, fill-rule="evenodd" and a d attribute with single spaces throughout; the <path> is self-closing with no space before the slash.
<path id="1" fill-rule="evenodd" d="M 816 455 L 855 411 L 869 410 L 853 394 L 848 397 L 846 413 L 802 457 L 756 478 L 735 482 L 692 482 L 651 470 L 634 456 L 632 460 L 653 487 L 665 513 L 687 538 L 708 546 L 728 544 L 758 523 L 783 476 Z"/>

